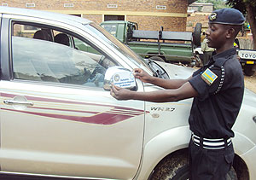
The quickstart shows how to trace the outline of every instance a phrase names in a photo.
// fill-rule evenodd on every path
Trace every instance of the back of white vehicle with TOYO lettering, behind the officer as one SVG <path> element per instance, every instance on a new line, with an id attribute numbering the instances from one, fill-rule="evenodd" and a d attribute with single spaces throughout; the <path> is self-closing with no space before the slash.
<path id="1" fill-rule="evenodd" d="M 256 71 L 256 50 L 237 49 L 241 66 L 247 76 L 252 76 Z"/>

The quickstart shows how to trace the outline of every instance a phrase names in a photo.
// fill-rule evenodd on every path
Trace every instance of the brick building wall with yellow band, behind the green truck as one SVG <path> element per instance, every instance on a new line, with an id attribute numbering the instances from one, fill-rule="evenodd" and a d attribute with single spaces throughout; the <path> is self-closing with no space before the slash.
<path id="1" fill-rule="evenodd" d="M 104 15 L 125 15 L 125 20 L 137 22 L 141 30 L 185 31 L 188 0 L 0 0 L 9 7 L 26 8 L 26 3 L 35 3 L 29 9 L 42 9 L 63 14 L 81 15 L 100 23 Z M 65 8 L 64 3 L 73 4 Z M 115 4 L 115 8 L 108 8 Z M 156 9 L 161 6 L 163 9 Z"/>

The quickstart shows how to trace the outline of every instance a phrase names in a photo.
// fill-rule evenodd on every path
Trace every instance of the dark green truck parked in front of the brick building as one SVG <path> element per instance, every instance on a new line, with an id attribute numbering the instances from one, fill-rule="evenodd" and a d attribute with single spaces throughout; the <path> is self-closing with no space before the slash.
<path id="1" fill-rule="evenodd" d="M 201 23 L 194 32 L 166 32 L 162 26 L 160 31 L 142 31 L 125 20 L 103 21 L 101 26 L 143 58 L 191 67 L 199 62 L 195 47 L 201 45 Z"/>

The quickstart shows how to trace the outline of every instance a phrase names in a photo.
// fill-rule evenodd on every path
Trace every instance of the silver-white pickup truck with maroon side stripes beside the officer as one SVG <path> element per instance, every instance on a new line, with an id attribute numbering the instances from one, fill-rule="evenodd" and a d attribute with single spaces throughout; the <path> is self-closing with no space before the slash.
<path id="1" fill-rule="evenodd" d="M 193 68 L 145 61 L 72 15 L 0 7 L 0 22 L 1 179 L 189 178 L 192 99 L 117 101 L 106 82 L 114 67 L 159 78 L 188 78 Z M 136 79 L 133 90 L 159 89 Z M 256 95 L 245 90 L 230 179 L 256 179 L 255 130 Z"/>

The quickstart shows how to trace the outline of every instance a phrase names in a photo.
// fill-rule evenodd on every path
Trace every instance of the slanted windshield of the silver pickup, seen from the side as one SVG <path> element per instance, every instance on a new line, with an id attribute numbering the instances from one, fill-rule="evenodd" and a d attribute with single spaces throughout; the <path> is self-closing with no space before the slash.
<path id="1" fill-rule="evenodd" d="M 113 48 L 119 50 L 123 55 L 136 63 L 138 67 L 146 67 L 150 72 L 152 72 L 150 67 L 148 67 L 147 61 L 145 61 L 141 56 L 137 55 L 125 44 L 121 43 L 117 38 L 114 38 L 101 26 L 96 25 L 96 23 L 94 22 L 91 22 L 89 25 L 87 24 L 85 26 L 90 29 L 91 32 L 94 32 L 98 37 L 102 38 L 105 42 L 111 45 Z"/>

